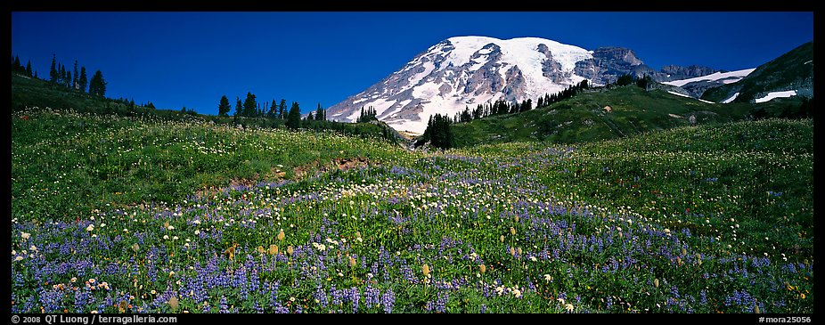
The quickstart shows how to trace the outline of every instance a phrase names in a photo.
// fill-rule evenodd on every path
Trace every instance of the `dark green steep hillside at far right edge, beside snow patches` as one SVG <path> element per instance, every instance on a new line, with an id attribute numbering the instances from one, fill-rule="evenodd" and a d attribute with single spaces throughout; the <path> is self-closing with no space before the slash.
<path id="1" fill-rule="evenodd" d="M 738 82 L 707 89 L 702 98 L 723 102 L 739 93 L 733 102 L 753 102 L 766 93 L 785 90 L 796 90 L 799 95 L 813 97 L 813 42 L 759 66 Z"/>

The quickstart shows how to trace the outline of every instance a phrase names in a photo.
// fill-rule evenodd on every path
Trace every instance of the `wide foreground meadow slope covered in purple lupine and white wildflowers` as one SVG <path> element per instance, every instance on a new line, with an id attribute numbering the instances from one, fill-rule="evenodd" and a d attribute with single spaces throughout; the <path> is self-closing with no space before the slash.
<path id="1" fill-rule="evenodd" d="M 53 112 L 12 126 L 12 313 L 813 313 L 810 120 L 436 155 Z"/>

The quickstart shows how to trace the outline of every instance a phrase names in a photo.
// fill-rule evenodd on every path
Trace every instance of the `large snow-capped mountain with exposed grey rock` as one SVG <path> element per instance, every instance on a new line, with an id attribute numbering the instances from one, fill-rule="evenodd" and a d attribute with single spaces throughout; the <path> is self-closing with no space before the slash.
<path id="1" fill-rule="evenodd" d="M 713 72 L 691 71 L 685 70 L 684 76 Z M 362 93 L 331 106 L 327 118 L 355 122 L 362 108 L 372 106 L 389 126 L 421 134 L 429 116 L 437 113 L 452 117 L 486 102 L 535 101 L 584 79 L 601 85 L 625 73 L 666 77 L 621 47 L 588 51 L 537 37 L 451 37 Z"/>

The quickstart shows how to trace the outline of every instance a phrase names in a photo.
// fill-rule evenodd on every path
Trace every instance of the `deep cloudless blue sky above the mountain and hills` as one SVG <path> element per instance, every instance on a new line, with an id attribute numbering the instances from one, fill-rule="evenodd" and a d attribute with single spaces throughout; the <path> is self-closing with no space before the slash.
<path id="1" fill-rule="evenodd" d="M 813 12 L 12 12 L 12 54 L 101 69 L 110 97 L 216 114 L 221 95 L 303 111 L 359 93 L 448 37 L 624 46 L 654 69 L 756 68 L 813 40 Z M 233 110 L 234 111 L 234 110 Z"/>

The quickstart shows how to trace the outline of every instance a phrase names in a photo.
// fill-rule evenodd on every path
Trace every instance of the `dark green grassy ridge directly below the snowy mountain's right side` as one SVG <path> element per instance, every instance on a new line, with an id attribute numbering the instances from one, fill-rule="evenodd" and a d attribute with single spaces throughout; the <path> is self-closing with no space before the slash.
<path id="1" fill-rule="evenodd" d="M 457 147 L 512 141 L 589 142 L 689 126 L 691 116 L 697 124 L 740 120 L 751 109 L 748 104 L 711 104 L 632 85 L 579 93 L 523 113 L 455 124 L 453 134 Z"/>

